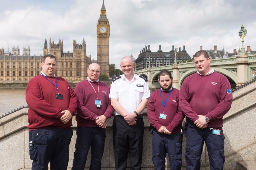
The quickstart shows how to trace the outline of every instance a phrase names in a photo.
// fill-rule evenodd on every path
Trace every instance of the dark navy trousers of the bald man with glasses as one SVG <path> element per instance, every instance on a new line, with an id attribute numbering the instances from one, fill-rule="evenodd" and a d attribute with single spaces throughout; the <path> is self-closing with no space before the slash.
<path id="1" fill-rule="evenodd" d="M 102 127 L 81 127 L 76 129 L 76 151 L 72 170 L 84 170 L 91 148 L 90 170 L 101 170 L 106 130 Z"/>

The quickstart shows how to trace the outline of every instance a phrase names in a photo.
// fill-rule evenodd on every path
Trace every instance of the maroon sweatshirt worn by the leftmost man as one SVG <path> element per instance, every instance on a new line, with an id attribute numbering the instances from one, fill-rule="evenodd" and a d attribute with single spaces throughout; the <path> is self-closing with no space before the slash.
<path id="1" fill-rule="evenodd" d="M 54 77 L 47 77 L 54 85 Z M 32 78 L 26 87 L 26 102 L 29 105 L 28 122 L 29 130 L 42 129 L 44 127 L 70 127 L 72 118 L 64 124 L 59 118 L 61 111 L 68 110 L 72 115 L 76 113 L 76 96 L 68 82 L 56 77 L 59 94 L 63 99 L 56 99 L 57 89 L 42 75 Z"/>

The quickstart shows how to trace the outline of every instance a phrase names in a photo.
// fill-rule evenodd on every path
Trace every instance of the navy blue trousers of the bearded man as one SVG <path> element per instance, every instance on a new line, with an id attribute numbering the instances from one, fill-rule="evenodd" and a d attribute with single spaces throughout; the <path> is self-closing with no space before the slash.
<path id="1" fill-rule="evenodd" d="M 182 165 L 182 144 L 179 133 L 166 135 L 156 129 L 152 137 L 152 160 L 155 170 L 165 170 L 165 158 L 168 153 L 170 170 L 180 170 Z"/>

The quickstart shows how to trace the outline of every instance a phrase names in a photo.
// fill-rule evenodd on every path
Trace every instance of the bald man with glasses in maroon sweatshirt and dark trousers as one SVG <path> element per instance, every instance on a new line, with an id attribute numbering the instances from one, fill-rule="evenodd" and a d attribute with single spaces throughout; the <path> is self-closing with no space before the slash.
<path id="1" fill-rule="evenodd" d="M 101 170 L 106 137 L 106 119 L 114 109 L 108 99 L 109 85 L 99 82 L 100 66 L 92 63 L 87 68 L 87 79 L 77 83 L 76 151 L 72 170 L 84 170 L 91 148 L 90 170 Z"/>

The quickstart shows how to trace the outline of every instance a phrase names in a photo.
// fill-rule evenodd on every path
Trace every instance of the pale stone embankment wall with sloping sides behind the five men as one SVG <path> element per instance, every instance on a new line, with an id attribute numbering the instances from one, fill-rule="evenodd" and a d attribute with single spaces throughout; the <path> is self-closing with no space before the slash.
<path id="1" fill-rule="evenodd" d="M 233 103 L 230 111 L 224 116 L 225 135 L 225 170 L 234 170 L 237 161 L 256 160 L 256 82 L 233 92 Z M 0 169 L 1 170 L 29 170 L 32 161 L 29 159 L 29 137 L 27 123 L 27 109 L 11 113 L 0 119 Z M 146 112 L 143 114 L 145 123 L 144 146 L 143 146 L 143 170 L 153 170 L 151 157 L 152 136 L 149 133 L 149 122 Z M 112 144 L 113 117 L 107 121 L 105 152 L 102 159 L 102 170 L 114 170 L 114 156 Z M 76 142 L 76 120 L 73 117 L 73 137 L 70 144 L 70 159 L 68 169 L 73 162 L 73 153 Z M 186 138 L 183 142 L 183 155 L 185 153 Z M 166 159 L 168 160 L 168 158 Z M 86 169 L 90 164 L 90 152 L 86 163 Z M 128 162 L 129 164 L 129 162 Z M 183 167 L 186 161 L 183 156 Z M 204 147 L 201 157 L 201 170 L 209 170 L 207 149 Z"/>

